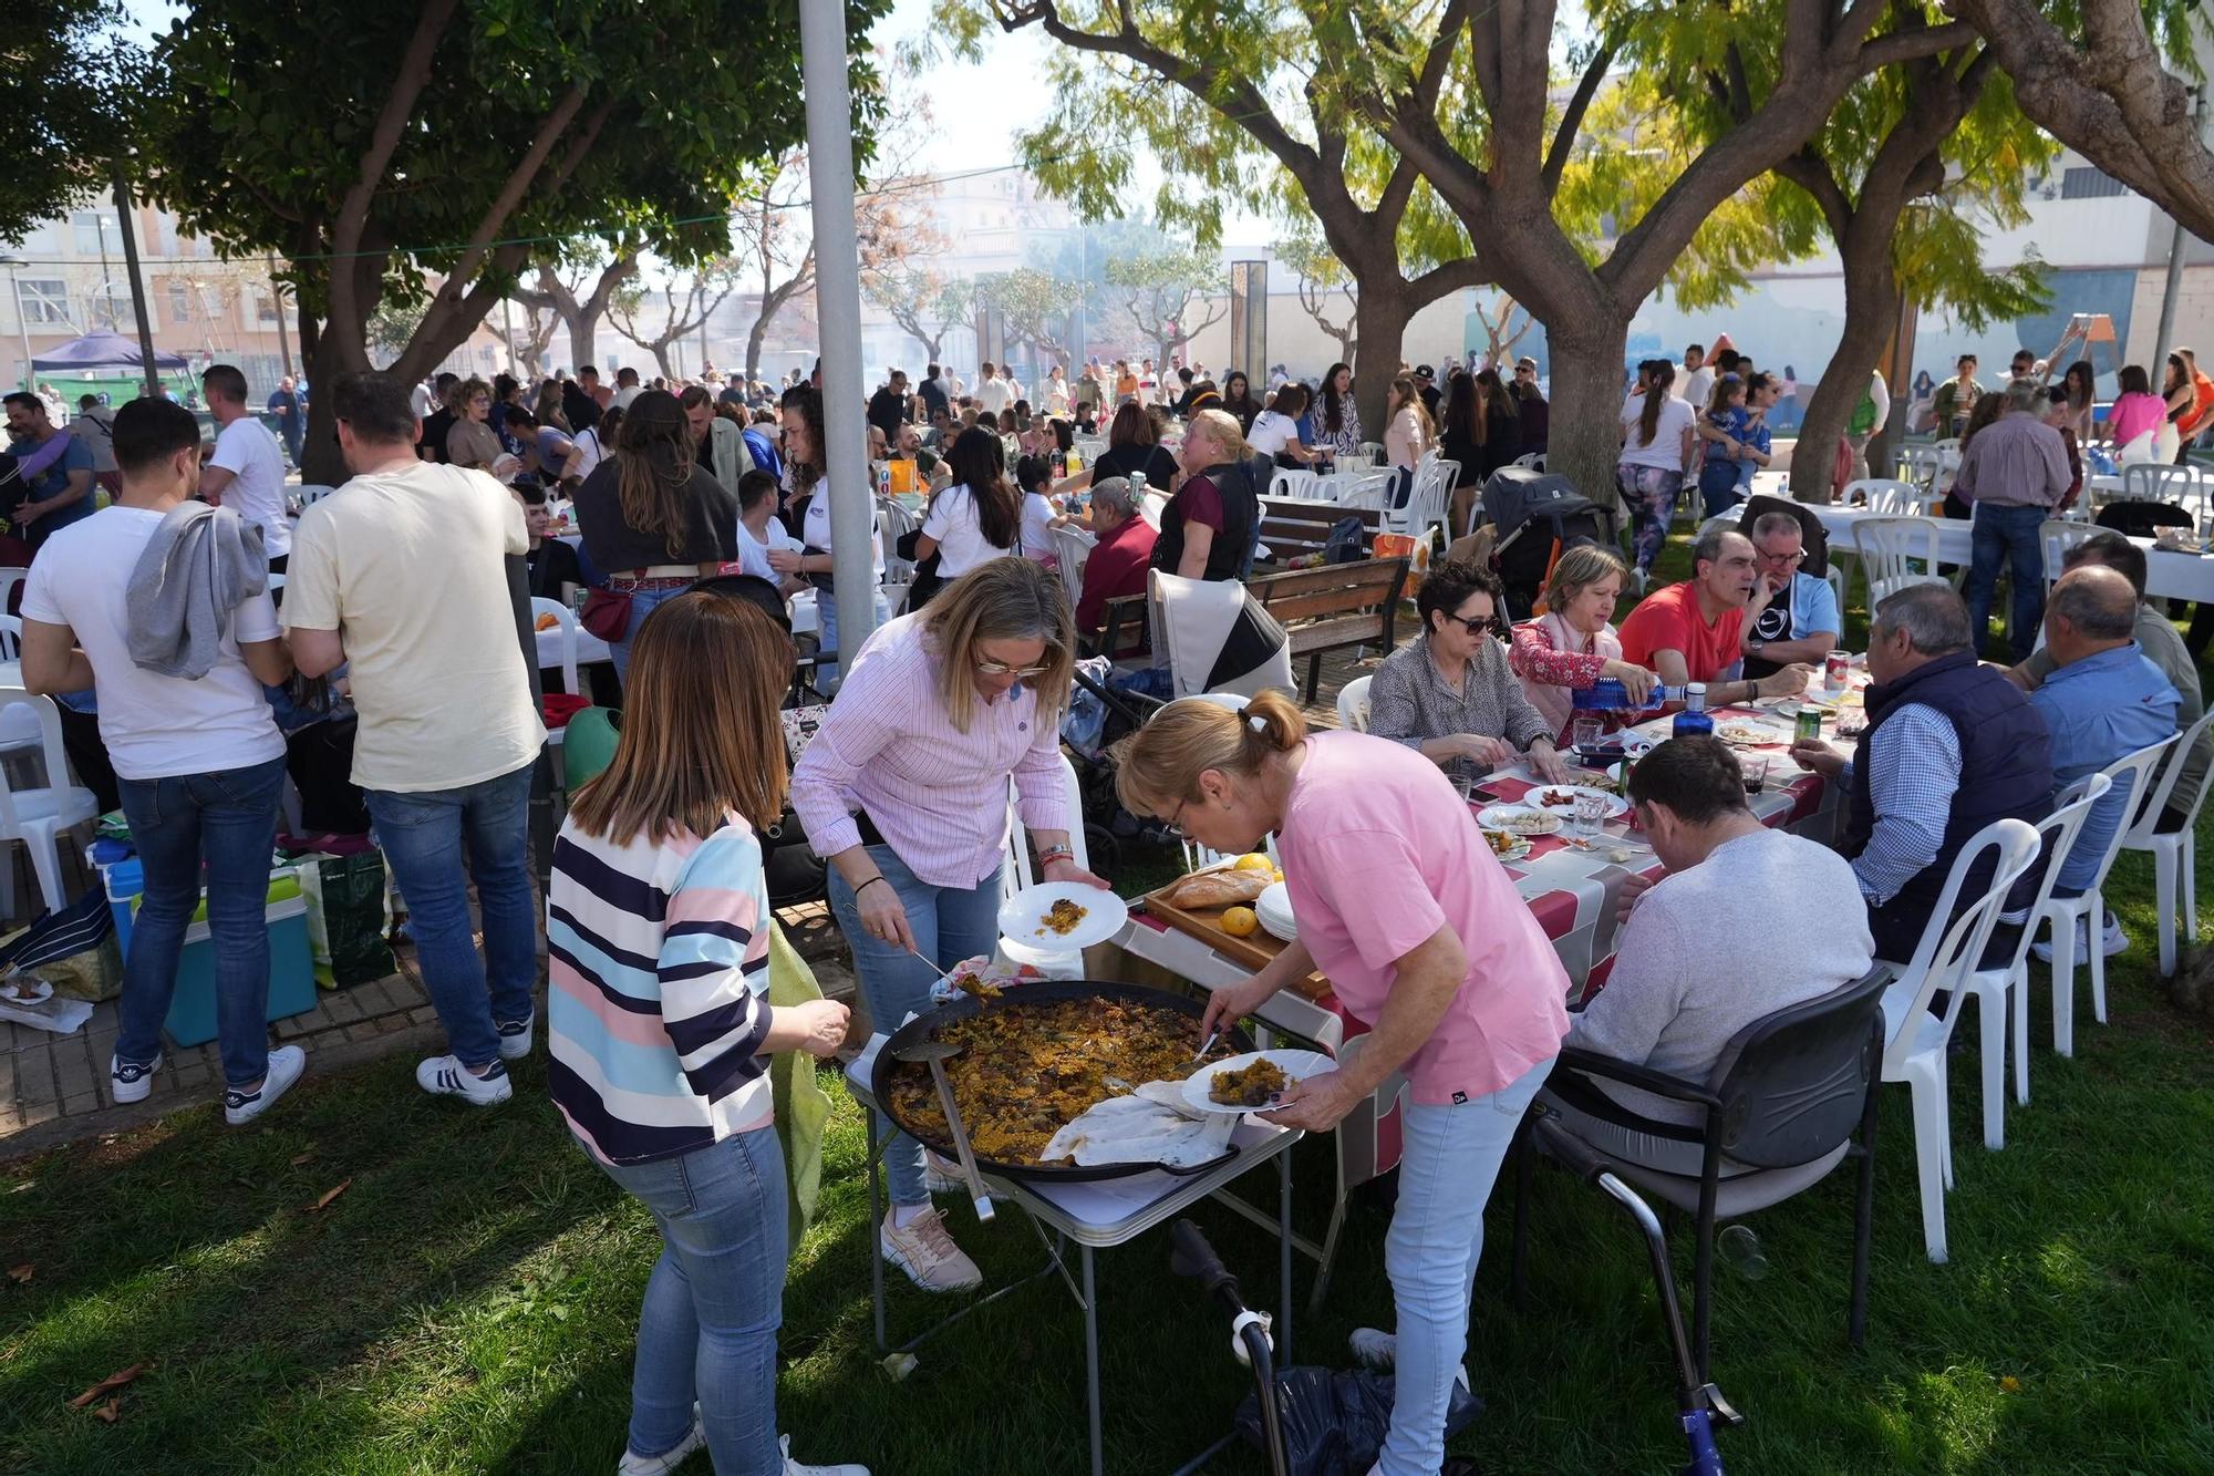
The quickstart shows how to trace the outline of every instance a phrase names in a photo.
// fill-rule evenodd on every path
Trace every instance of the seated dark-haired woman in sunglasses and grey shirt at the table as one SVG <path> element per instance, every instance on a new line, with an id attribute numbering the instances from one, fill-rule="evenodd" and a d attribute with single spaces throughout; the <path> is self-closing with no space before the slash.
<path id="1" fill-rule="evenodd" d="M 1415 596 L 1421 634 L 1368 683 L 1368 731 L 1419 751 L 1452 778 L 1514 762 L 1568 782 L 1545 720 L 1508 667 L 1499 576 L 1472 563 L 1430 565 Z"/>

